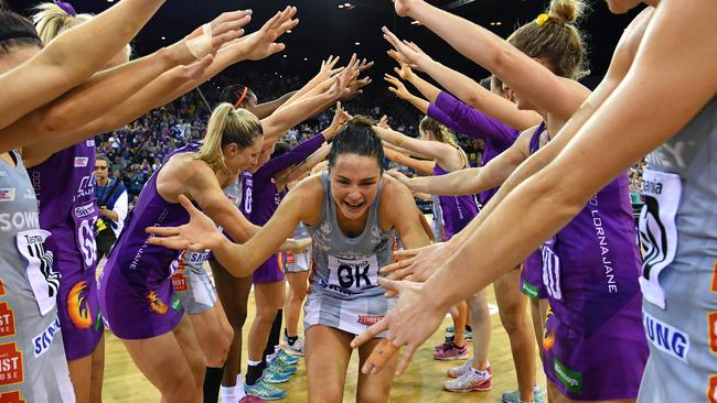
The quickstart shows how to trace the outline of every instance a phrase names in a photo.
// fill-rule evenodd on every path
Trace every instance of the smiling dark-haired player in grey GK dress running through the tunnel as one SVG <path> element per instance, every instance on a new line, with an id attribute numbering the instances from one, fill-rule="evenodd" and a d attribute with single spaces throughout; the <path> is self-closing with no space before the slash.
<path id="1" fill-rule="evenodd" d="M 376 281 L 378 268 L 390 259 L 394 229 L 408 248 L 428 243 L 410 193 L 382 174 L 382 157 L 372 123 L 354 119 L 332 143 L 329 171 L 302 181 L 244 246 L 232 244 L 184 199 L 192 216 L 189 225 L 148 228 L 169 237 L 151 237 L 151 244 L 211 248 L 224 266 L 246 270 L 274 253 L 279 238 L 299 222 L 307 224 L 317 264 L 304 307 L 310 401 L 342 400 L 352 335 L 382 318 L 390 306 Z M 363 363 L 368 350 L 358 352 Z M 381 377 L 361 374 L 357 400 L 387 401 L 392 379 L 388 371 Z"/>

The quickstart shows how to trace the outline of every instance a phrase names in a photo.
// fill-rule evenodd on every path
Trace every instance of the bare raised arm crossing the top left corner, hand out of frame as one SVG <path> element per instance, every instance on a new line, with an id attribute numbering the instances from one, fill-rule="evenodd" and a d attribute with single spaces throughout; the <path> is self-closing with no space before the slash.
<path id="1" fill-rule="evenodd" d="M 33 58 L 0 75 L 0 128 L 100 69 L 163 3 L 164 0 L 124 0 L 92 21 L 67 30 Z"/>

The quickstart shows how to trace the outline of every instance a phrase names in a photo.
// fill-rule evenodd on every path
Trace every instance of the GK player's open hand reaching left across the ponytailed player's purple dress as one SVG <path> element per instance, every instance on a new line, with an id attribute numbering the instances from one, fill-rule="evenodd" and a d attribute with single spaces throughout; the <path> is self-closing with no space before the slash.
<path id="1" fill-rule="evenodd" d="M 190 221 L 179 227 L 147 227 L 145 231 L 152 236 L 147 239 L 150 244 L 170 249 L 189 249 L 202 251 L 217 248 L 225 240 L 222 232 L 210 219 L 200 211 L 184 195 L 179 196 L 179 203 L 190 215 Z"/>

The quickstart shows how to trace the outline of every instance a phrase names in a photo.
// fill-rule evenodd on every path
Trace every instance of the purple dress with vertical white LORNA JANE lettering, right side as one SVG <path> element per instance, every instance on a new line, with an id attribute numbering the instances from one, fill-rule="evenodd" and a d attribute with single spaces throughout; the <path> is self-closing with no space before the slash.
<path id="1" fill-rule="evenodd" d="M 555 236 L 558 265 L 544 266 L 548 379 L 575 400 L 634 399 L 648 359 L 640 258 L 628 175 L 622 173 Z"/>

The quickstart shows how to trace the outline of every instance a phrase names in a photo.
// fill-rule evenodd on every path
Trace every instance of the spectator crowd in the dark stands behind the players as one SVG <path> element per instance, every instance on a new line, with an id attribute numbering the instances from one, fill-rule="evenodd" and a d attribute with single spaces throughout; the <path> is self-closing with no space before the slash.
<path id="1" fill-rule="evenodd" d="M 130 205 L 169 153 L 204 135 L 210 108 L 221 101 L 222 88 L 237 83 L 248 85 L 259 98 L 259 104 L 279 98 L 303 84 L 298 77 L 275 77 L 256 72 L 240 78 L 220 76 L 203 85 L 201 92 L 188 92 L 125 128 L 98 137 L 97 153 L 109 159 L 114 177 L 122 177 L 130 196 Z M 363 115 L 376 120 L 387 115 L 392 128 L 413 137 L 418 135 L 417 127 L 421 117 L 414 108 L 404 105 L 384 88 L 358 95 L 344 104 L 352 115 Z M 329 127 L 332 117 L 333 109 L 329 109 L 306 120 L 289 130 L 283 141 L 293 146 Z M 460 134 L 458 139 L 471 165 L 475 166 L 481 161 L 484 143 Z"/>

